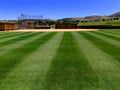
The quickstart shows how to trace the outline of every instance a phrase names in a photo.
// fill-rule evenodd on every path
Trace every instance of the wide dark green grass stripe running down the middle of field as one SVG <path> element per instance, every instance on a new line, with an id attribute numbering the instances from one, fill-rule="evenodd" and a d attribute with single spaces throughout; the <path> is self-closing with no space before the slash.
<path id="1" fill-rule="evenodd" d="M 99 87 L 98 79 L 70 32 L 64 34 L 47 74 L 47 90 Z"/>

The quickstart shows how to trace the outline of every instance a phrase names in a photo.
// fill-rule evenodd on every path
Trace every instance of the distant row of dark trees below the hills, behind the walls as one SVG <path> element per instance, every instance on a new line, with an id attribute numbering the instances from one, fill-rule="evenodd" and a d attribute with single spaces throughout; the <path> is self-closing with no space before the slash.
<path id="1" fill-rule="evenodd" d="M 98 21 L 110 21 L 110 20 L 119 20 L 119 17 L 112 17 L 112 18 L 102 18 L 100 20 L 98 19 L 73 19 L 73 18 L 66 18 L 66 19 L 59 19 L 59 20 L 38 20 L 34 22 L 35 25 L 55 25 L 55 24 L 78 24 L 78 23 L 84 23 L 84 22 L 98 22 Z M 18 21 L 18 24 L 21 25 L 22 21 Z"/>

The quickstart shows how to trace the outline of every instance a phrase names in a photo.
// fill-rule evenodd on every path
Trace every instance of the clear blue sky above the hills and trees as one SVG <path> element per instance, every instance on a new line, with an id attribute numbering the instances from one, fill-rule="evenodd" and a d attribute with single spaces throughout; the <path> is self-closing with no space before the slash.
<path id="1" fill-rule="evenodd" d="M 21 13 L 59 19 L 118 11 L 120 0 L 0 0 L 0 20 L 16 19 Z"/>

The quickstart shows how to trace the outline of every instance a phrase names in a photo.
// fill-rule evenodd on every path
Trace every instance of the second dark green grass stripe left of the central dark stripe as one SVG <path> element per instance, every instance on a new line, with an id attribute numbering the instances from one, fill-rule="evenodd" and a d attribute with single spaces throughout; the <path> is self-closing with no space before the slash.
<path id="1" fill-rule="evenodd" d="M 4 41 L 4 42 L 1 42 L 0 43 L 0 47 L 3 47 L 3 46 L 6 46 L 6 45 L 9 45 L 9 44 L 13 44 L 13 43 L 16 43 L 16 42 L 19 42 L 21 40 L 24 40 L 26 38 L 29 38 L 31 36 L 35 36 L 35 35 L 38 35 L 40 33 L 25 33 L 23 35 L 20 35 L 19 37 L 17 38 L 13 38 L 13 39 L 10 39 L 10 40 L 7 40 L 7 41 Z"/>

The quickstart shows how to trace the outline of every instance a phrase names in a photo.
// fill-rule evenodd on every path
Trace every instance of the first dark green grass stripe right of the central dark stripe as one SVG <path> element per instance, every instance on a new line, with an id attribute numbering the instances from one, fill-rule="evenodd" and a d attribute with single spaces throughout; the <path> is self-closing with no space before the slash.
<path id="1" fill-rule="evenodd" d="M 108 53 L 112 57 L 114 57 L 117 61 L 120 62 L 120 48 L 116 47 L 113 44 L 105 42 L 97 37 L 89 35 L 85 32 L 80 32 L 85 38 L 95 44 L 98 48 L 102 49 L 104 52 Z"/>

